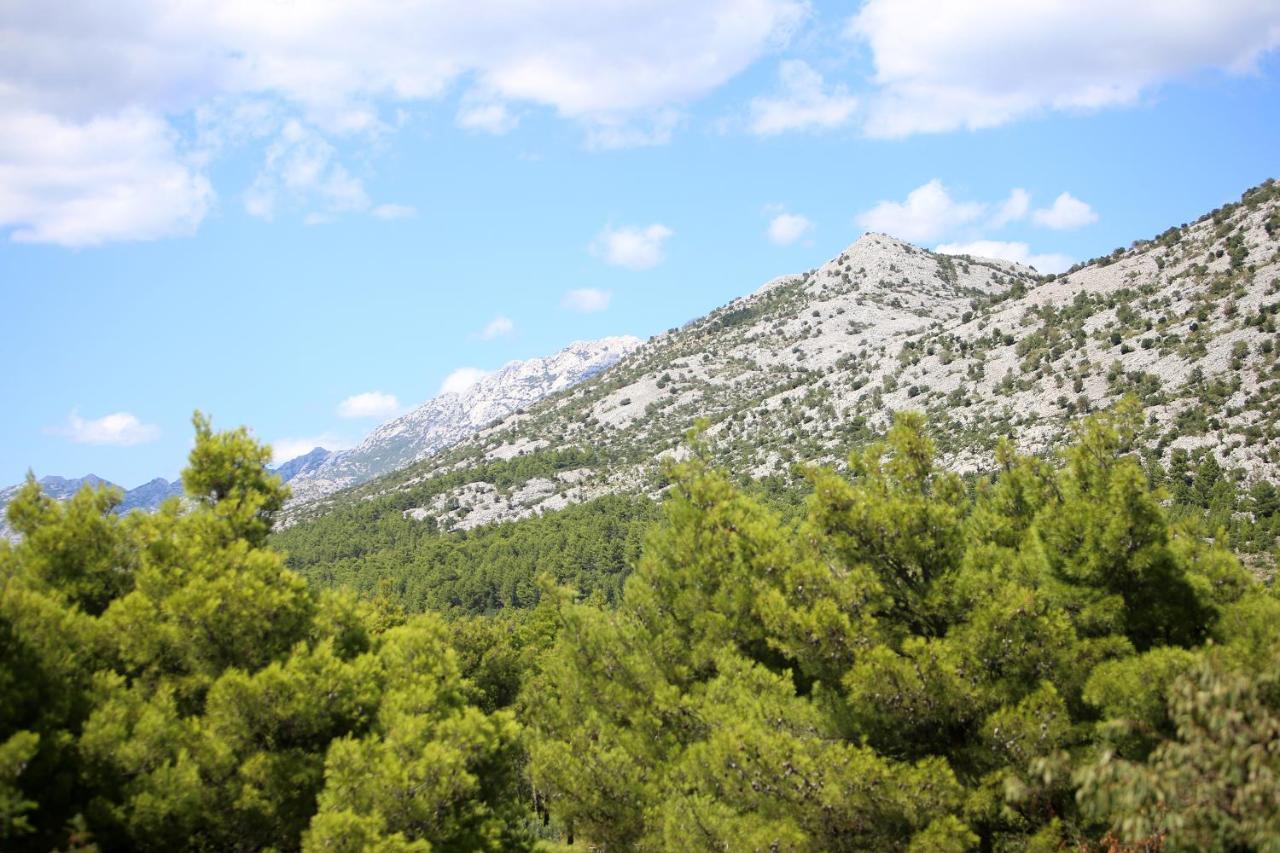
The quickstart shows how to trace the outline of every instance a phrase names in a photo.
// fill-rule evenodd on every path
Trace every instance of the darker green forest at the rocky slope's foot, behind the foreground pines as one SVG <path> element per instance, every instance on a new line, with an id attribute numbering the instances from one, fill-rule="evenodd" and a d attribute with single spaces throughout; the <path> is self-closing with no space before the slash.
<path id="1" fill-rule="evenodd" d="M 1207 448 L 1178 450 L 1169 465 L 1151 455 L 1143 455 L 1142 462 L 1174 520 L 1203 537 L 1220 537 L 1248 556 L 1252 567 L 1271 574 L 1280 540 L 1275 484 L 1243 483 L 1240 473 L 1224 470 Z M 503 471 L 509 487 L 511 474 Z M 982 482 L 980 475 L 970 475 L 965 487 L 973 493 Z M 735 483 L 783 519 L 803 515 L 803 479 L 774 475 Z M 390 507 L 372 503 L 358 501 L 279 530 L 270 544 L 317 588 L 344 587 L 364 598 L 385 597 L 413 613 L 492 615 L 535 606 L 540 574 L 616 603 L 646 530 L 660 515 L 648 497 L 611 494 L 545 515 L 449 532 L 433 519 L 404 517 L 402 498 Z"/>

